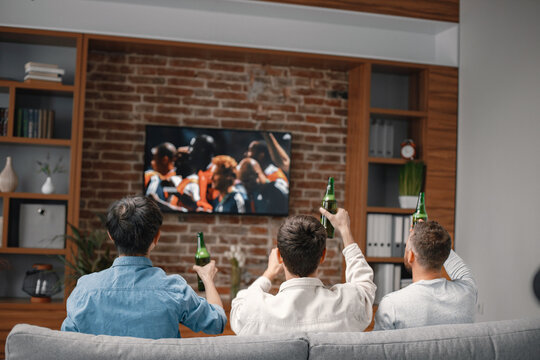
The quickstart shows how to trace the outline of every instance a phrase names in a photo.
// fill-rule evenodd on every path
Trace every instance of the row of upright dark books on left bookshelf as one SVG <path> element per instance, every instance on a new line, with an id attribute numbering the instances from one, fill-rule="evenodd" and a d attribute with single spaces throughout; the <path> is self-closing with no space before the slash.
<path id="1" fill-rule="evenodd" d="M 54 110 L 17 109 L 15 136 L 51 139 L 53 129 Z"/>

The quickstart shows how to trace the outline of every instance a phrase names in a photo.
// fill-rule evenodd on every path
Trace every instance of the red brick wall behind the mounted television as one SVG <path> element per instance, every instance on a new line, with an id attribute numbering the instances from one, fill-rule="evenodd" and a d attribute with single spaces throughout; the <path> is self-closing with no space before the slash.
<path id="1" fill-rule="evenodd" d="M 328 176 L 343 204 L 347 73 L 192 58 L 92 52 L 88 60 L 81 184 L 83 229 L 94 213 L 142 189 L 145 125 L 289 131 L 292 133 L 290 214 L 318 215 Z M 243 286 L 264 271 L 280 217 L 165 214 L 151 259 L 194 285 L 196 232 L 203 231 L 229 286 L 231 244 L 248 255 Z M 340 239 L 329 240 L 320 276 L 341 279 Z"/>

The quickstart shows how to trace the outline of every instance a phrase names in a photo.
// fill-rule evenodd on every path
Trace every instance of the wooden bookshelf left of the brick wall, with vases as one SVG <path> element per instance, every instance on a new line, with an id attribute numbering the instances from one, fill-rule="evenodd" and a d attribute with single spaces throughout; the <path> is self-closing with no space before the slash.
<path id="1" fill-rule="evenodd" d="M 31 303 L 30 296 L 22 288 L 26 271 L 35 263 L 53 265 L 53 270 L 62 279 L 66 269 L 59 259 L 69 256 L 69 242 L 52 246 L 44 239 L 36 240 L 35 232 L 28 232 L 26 224 L 31 224 L 37 214 L 30 212 L 33 206 L 45 209 L 60 209 L 59 223 L 51 231 L 56 235 L 66 233 L 66 224 L 78 223 L 80 163 L 82 152 L 82 101 L 83 88 L 81 71 L 83 69 L 83 37 L 81 34 L 17 29 L 0 27 L 0 107 L 7 109 L 6 131 L 0 136 L 0 167 L 3 169 L 6 157 L 12 158 L 13 169 L 19 179 L 18 186 L 11 192 L 0 193 L 0 318 L 10 323 L 31 322 L 58 328 L 60 312 L 65 312 L 65 300 L 69 289 L 52 296 L 46 304 Z M 25 64 L 29 61 L 56 64 L 65 69 L 61 82 L 24 81 Z M 47 109 L 54 111 L 52 132 L 23 134 L 18 124 L 23 121 L 20 109 Z M 21 114 L 19 116 L 18 114 Z M 36 111 L 36 124 L 44 114 Z M 26 119 L 28 121 L 28 119 Z M 44 126 L 44 125 L 43 125 Z M 41 127 L 41 124 L 40 124 Z M 52 175 L 55 191 L 42 194 L 41 186 L 46 176 L 38 172 L 37 160 L 50 157 L 54 165 L 61 157 L 65 173 Z M 55 211 L 56 211 L 55 210 Z M 57 214 L 57 213 L 55 213 Z M 39 231 L 46 233 L 46 229 Z M 23 239 L 29 243 L 23 243 Z M 33 244 L 33 245 L 32 245 Z M 56 312 L 55 317 L 44 316 L 44 311 Z M 14 314 L 17 313 L 15 317 Z M 9 325 L 9 324 L 8 324 Z M 0 331 L 5 331 L 4 326 Z M 8 329 L 9 331 L 9 329 Z"/>

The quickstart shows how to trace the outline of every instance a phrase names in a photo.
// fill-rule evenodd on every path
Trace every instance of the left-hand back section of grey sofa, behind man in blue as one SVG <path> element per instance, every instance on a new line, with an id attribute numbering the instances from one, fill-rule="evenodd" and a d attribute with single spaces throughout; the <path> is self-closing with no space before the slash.
<path id="1" fill-rule="evenodd" d="M 6 340 L 8 360 L 30 359 L 302 359 L 307 339 L 299 335 L 219 336 L 189 339 L 140 339 L 61 332 L 19 324 Z"/>

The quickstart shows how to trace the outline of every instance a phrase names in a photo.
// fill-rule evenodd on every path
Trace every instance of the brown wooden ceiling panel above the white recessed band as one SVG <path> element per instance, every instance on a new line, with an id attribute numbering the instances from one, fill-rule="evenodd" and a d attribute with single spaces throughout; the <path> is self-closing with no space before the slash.
<path id="1" fill-rule="evenodd" d="M 459 0 L 261 0 L 459 22 Z"/>

